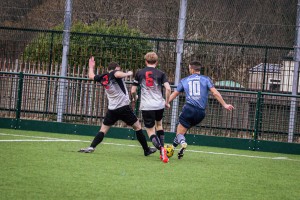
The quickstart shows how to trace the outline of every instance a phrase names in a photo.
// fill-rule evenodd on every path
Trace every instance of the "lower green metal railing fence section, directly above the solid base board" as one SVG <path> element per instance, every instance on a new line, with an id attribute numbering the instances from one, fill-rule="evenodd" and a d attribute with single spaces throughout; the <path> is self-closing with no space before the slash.
<path id="1" fill-rule="evenodd" d="M 0 117 L 56 121 L 59 78 L 0 72 Z M 66 83 L 63 122 L 100 126 L 107 110 L 103 87 L 86 78 L 68 77 L 63 80 Z M 131 87 L 131 82 L 127 82 L 127 87 Z M 224 100 L 236 109 L 229 112 L 210 96 L 206 118 L 188 133 L 287 142 L 290 104 L 295 99 L 298 111 L 294 113 L 292 142 L 300 143 L 300 96 L 226 89 L 220 91 Z M 172 119 L 177 121 L 178 112 L 184 104 L 184 94 L 178 98 L 178 111 L 165 111 L 165 131 L 171 130 Z M 132 106 L 141 119 L 137 105 Z M 126 127 L 122 122 L 115 126 Z"/>

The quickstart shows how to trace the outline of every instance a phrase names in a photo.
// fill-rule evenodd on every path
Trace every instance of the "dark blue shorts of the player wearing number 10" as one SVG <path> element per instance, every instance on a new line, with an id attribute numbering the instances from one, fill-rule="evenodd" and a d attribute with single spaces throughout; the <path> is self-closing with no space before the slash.
<path id="1" fill-rule="evenodd" d="M 196 108 L 191 104 L 185 104 L 182 112 L 179 115 L 179 123 L 185 128 L 189 129 L 192 126 L 199 124 L 205 117 L 205 110 Z"/>

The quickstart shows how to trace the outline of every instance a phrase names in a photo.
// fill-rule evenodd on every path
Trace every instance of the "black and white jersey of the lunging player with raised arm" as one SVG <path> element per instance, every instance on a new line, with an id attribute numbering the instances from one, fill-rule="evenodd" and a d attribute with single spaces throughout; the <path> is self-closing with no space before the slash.
<path id="1" fill-rule="evenodd" d="M 108 98 L 108 109 L 115 110 L 122 106 L 130 104 L 130 99 L 123 78 L 116 78 L 114 70 L 104 75 L 96 75 L 94 80 L 100 82 L 104 88 Z"/>

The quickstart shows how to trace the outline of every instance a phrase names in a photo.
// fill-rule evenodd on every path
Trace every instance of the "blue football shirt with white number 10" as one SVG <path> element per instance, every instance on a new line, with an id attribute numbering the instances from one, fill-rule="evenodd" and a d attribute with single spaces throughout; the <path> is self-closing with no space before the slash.
<path id="1" fill-rule="evenodd" d="M 192 74 L 183 78 L 176 90 L 185 92 L 186 103 L 205 109 L 209 95 L 209 89 L 214 87 L 212 80 L 204 75 Z"/>

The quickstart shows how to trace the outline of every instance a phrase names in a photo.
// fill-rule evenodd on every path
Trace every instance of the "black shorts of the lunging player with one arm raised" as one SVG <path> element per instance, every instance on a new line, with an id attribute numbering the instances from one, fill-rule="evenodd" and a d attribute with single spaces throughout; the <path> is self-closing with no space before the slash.
<path id="1" fill-rule="evenodd" d="M 118 120 L 122 120 L 128 126 L 132 126 L 135 122 L 138 121 L 138 118 L 135 116 L 132 108 L 127 105 L 115 110 L 107 110 L 103 120 L 103 124 L 106 126 L 112 126 Z"/>

